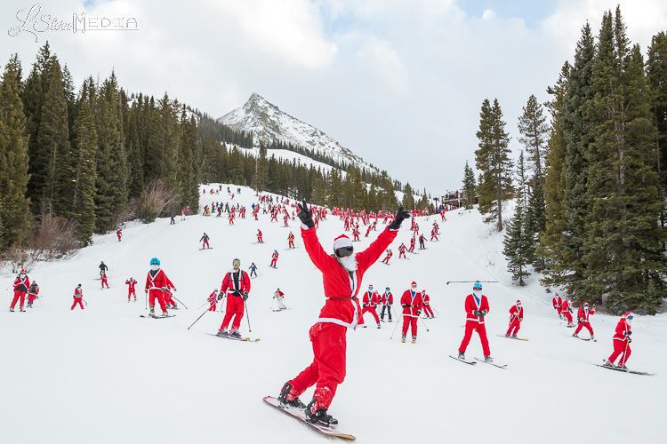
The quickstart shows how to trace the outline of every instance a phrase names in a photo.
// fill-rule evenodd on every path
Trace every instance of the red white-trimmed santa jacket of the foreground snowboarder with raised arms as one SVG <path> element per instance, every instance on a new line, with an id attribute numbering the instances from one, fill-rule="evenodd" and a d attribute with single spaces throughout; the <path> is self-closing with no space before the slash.
<path id="1" fill-rule="evenodd" d="M 322 272 L 322 282 L 325 287 L 326 303 L 319 313 L 319 322 L 332 322 L 350 329 L 357 327 L 359 315 L 357 295 L 364 274 L 368 267 L 380 258 L 382 251 L 396 239 L 397 234 L 398 231 L 385 228 L 366 250 L 354 255 L 357 260 L 357 270 L 349 272 L 335 256 L 325 252 L 317 239 L 315 228 L 306 230 L 301 228 L 303 245 L 310 260 Z"/>

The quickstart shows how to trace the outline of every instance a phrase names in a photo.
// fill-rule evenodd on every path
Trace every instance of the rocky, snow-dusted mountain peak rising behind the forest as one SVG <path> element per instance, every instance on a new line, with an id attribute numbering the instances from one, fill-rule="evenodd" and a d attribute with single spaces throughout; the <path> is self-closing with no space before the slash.
<path id="1" fill-rule="evenodd" d="M 373 169 L 361 157 L 327 136 L 324 131 L 281 111 L 256 92 L 253 92 L 243 107 L 223 115 L 218 122 L 237 131 L 252 132 L 256 142 L 282 141 L 328 155 L 339 163 Z"/>

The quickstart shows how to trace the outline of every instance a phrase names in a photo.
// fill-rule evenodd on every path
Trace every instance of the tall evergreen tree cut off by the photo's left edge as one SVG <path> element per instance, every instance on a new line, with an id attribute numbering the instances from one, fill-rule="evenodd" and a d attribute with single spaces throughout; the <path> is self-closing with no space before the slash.
<path id="1" fill-rule="evenodd" d="M 12 55 L 0 83 L 0 251 L 22 244 L 30 226 L 28 137 L 20 99 L 20 61 Z"/>

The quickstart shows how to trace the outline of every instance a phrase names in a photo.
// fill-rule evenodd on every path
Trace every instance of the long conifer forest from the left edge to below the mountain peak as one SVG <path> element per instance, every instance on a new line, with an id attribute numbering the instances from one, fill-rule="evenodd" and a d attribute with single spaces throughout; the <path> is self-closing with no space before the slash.
<path id="1" fill-rule="evenodd" d="M 320 155 L 321 162 L 344 170 L 325 171 L 267 158 L 267 147 L 259 158 L 243 149 L 253 146 L 252 134 L 166 93 L 159 99 L 128 94 L 113 72 L 104 80 L 88 77 L 76 89 L 48 43 L 27 76 L 13 55 L 0 83 L 0 253 L 25 247 L 44 215 L 71 222 L 86 245 L 92 234 L 140 217 L 142 199 L 157 183 L 171 196 L 161 215 L 188 205 L 197 210 L 202 181 L 358 210 L 394 210 L 394 190 L 405 190 L 386 171 Z M 417 205 L 408 203 L 423 208 L 429 201 L 424 195 Z"/>

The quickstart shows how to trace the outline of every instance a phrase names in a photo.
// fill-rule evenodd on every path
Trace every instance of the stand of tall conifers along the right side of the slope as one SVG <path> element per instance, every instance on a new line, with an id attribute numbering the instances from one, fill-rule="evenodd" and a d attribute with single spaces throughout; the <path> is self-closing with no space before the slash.
<path id="1" fill-rule="evenodd" d="M 519 285 L 532 266 L 577 303 L 656 313 L 667 278 L 667 35 L 656 34 L 645 57 L 620 8 L 604 12 L 597 36 L 583 26 L 547 91 L 550 122 L 531 96 L 518 122 L 525 155 L 514 166 L 503 163 L 495 102 L 482 105 L 480 211 L 502 230 L 501 202 L 517 199 L 504 252 Z"/>

